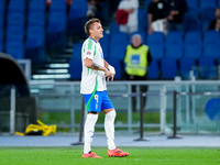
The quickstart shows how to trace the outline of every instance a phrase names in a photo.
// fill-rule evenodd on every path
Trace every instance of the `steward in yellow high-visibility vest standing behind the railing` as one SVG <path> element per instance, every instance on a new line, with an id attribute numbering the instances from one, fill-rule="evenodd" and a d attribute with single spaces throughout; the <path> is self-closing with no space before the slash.
<path id="1" fill-rule="evenodd" d="M 152 55 L 147 45 L 142 43 L 142 36 L 134 34 L 131 38 L 131 44 L 125 51 L 125 78 L 127 80 L 146 80 L 147 66 L 152 62 Z M 140 86 L 140 91 L 146 92 L 147 86 Z M 136 92 L 136 86 L 132 86 L 132 92 Z M 146 97 L 144 97 L 144 107 Z M 132 97 L 132 109 L 136 111 L 136 98 Z"/>

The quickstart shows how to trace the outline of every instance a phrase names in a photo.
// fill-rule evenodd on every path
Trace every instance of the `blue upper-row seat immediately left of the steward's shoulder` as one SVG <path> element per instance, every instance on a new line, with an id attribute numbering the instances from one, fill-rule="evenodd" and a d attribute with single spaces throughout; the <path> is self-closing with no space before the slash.
<path id="1" fill-rule="evenodd" d="M 109 48 L 109 58 L 123 61 L 127 48 L 124 44 L 110 44 Z"/>

